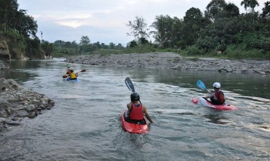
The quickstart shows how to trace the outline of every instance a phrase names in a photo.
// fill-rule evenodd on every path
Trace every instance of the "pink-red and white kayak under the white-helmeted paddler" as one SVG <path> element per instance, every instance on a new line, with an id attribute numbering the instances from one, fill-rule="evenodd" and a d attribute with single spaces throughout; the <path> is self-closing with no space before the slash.
<path id="1" fill-rule="evenodd" d="M 221 105 L 215 105 L 202 97 L 191 98 L 191 101 L 195 104 L 204 105 L 204 106 L 214 108 L 214 109 L 219 109 L 219 110 L 236 110 L 236 109 L 238 109 L 237 107 L 235 107 L 233 105 L 225 104 L 225 103 L 221 104 Z"/>

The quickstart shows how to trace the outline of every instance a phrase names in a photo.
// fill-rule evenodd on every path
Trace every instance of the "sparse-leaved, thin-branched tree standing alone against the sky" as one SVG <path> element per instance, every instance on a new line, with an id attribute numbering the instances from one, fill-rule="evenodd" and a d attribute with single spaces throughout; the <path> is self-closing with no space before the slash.
<path id="1" fill-rule="evenodd" d="M 126 33 L 128 36 L 134 36 L 137 40 L 149 37 L 149 34 L 147 33 L 149 28 L 147 28 L 147 23 L 143 17 L 136 16 L 133 22 L 128 21 L 128 24 L 126 25 L 130 29 L 130 33 Z"/>

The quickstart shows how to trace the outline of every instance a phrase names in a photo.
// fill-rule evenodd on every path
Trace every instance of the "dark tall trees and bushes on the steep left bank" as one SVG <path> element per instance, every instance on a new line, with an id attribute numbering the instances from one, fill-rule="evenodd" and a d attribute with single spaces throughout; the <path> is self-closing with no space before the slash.
<path id="1" fill-rule="evenodd" d="M 53 45 L 38 39 L 37 24 L 26 10 L 18 9 L 17 0 L 0 0 L 0 40 L 6 41 L 11 59 L 51 56 Z"/>

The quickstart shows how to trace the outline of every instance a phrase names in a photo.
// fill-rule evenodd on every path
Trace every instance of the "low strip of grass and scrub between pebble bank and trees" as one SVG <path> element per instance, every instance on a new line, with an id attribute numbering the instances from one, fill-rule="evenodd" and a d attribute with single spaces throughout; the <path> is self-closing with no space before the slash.
<path id="1" fill-rule="evenodd" d="M 148 52 L 175 52 L 182 56 L 188 57 L 192 61 L 197 61 L 198 57 L 216 57 L 216 58 L 227 58 L 227 59 L 270 59 L 270 51 L 263 51 L 259 49 L 244 49 L 239 46 L 231 45 L 227 46 L 224 52 L 217 54 L 215 50 L 205 51 L 203 49 L 198 49 L 194 45 L 189 46 L 185 49 L 175 49 L 175 48 L 155 48 L 152 45 L 136 46 L 132 48 L 123 48 L 123 49 L 97 49 L 91 52 L 83 53 L 86 54 L 101 54 L 103 56 L 108 54 L 124 54 L 124 53 L 148 53 Z M 64 54 L 56 52 L 53 54 L 54 57 L 63 57 L 78 55 L 77 53 Z M 191 57 L 190 57 L 191 56 Z M 172 61 L 177 61 L 172 60 Z"/>

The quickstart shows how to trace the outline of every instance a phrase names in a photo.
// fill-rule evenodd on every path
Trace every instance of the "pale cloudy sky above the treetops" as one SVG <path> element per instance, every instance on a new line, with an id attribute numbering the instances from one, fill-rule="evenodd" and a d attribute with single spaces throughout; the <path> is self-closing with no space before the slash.
<path id="1" fill-rule="evenodd" d="M 242 0 L 225 0 L 238 6 L 244 13 Z M 183 18 L 191 7 L 204 12 L 210 0 L 17 0 L 20 9 L 34 17 L 38 25 L 36 35 L 49 42 L 56 40 L 79 43 L 81 36 L 88 36 L 91 43 L 99 41 L 121 43 L 123 46 L 134 37 L 126 26 L 135 17 L 143 17 L 149 27 L 157 15 Z M 255 11 L 261 12 L 266 0 L 257 0 Z M 151 38 L 153 40 L 153 38 Z"/>

